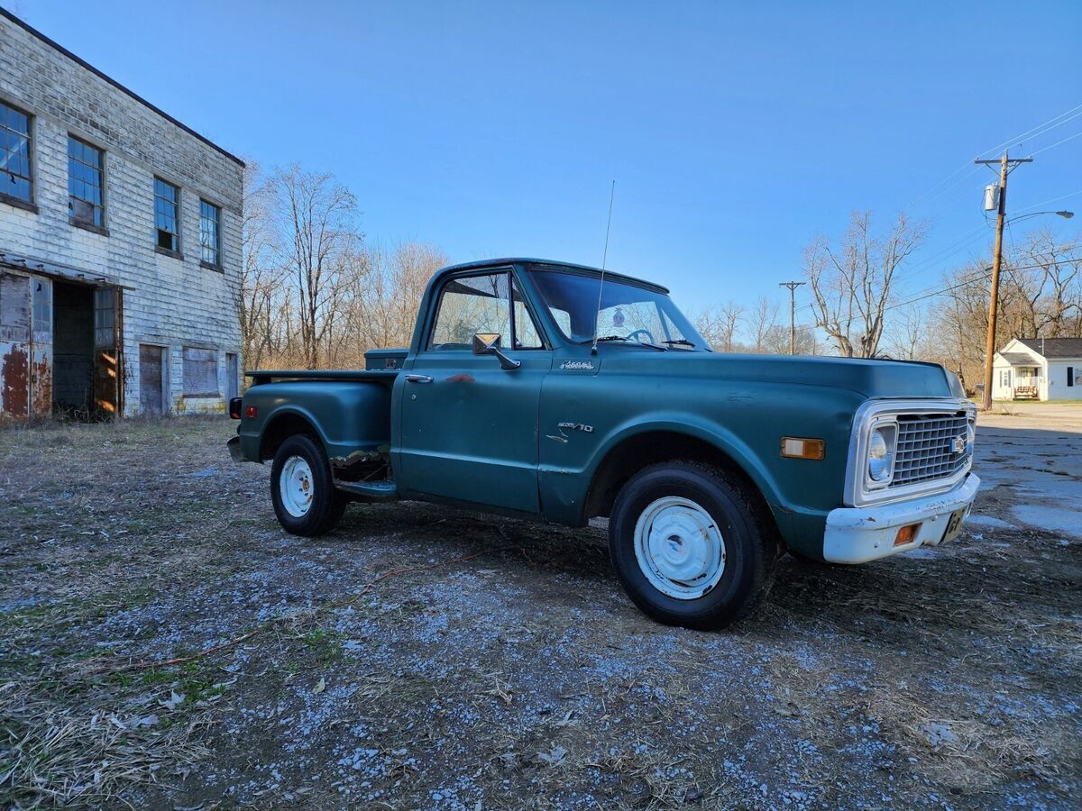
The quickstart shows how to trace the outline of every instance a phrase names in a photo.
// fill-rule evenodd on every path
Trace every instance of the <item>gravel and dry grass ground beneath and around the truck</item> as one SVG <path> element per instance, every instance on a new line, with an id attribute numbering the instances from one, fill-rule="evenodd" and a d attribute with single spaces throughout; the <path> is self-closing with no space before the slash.
<path id="1" fill-rule="evenodd" d="M 0 430 L 0 807 L 1077 807 L 1071 413 L 981 417 L 954 544 L 787 557 L 718 634 L 639 614 L 598 528 L 289 536 L 232 431 Z"/>

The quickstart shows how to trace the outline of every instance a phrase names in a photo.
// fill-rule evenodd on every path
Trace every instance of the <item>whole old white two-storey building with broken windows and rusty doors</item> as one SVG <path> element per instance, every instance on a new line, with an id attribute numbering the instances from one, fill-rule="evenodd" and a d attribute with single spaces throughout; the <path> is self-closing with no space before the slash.
<path id="1" fill-rule="evenodd" d="M 0 9 L 0 415 L 222 411 L 243 163 Z"/>

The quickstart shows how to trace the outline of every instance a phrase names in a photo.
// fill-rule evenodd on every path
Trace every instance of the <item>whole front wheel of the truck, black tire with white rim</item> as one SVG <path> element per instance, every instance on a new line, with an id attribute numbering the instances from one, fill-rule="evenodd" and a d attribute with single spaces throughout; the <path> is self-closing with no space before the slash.
<path id="1" fill-rule="evenodd" d="M 628 596 L 667 625 L 722 628 L 769 589 L 770 518 L 736 477 L 694 462 L 651 465 L 612 505 L 609 553 Z"/>

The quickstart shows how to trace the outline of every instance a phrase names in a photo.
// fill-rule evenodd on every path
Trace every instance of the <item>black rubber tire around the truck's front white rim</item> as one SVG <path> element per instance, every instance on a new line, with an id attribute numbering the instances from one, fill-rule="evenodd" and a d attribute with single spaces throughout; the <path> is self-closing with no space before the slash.
<path id="1" fill-rule="evenodd" d="M 664 594 L 636 558 L 635 524 L 665 496 L 699 505 L 721 532 L 724 570 L 701 597 Z M 665 625 L 714 630 L 747 616 L 769 591 L 778 539 L 765 505 L 741 479 L 696 462 L 664 462 L 644 468 L 620 490 L 609 517 L 609 554 L 628 596 L 648 616 Z"/>

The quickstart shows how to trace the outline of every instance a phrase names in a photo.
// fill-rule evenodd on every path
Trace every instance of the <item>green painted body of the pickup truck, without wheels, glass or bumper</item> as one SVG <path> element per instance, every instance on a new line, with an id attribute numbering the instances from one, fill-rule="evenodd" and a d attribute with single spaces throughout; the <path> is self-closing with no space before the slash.
<path id="1" fill-rule="evenodd" d="M 827 514 L 843 506 L 857 409 L 873 398 L 963 397 L 958 378 L 934 363 L 654 351 L 623 342 L 594 354 L 589 342 L 568 338 L 568 324 L 545 306 L 533 280 L 550 270 L 601 272 L 539 260 L 444 268 L 422 298 L 410 347 L 380 350 L 377 368 L 249 372 L 243 406 L 258 415 L 238 427 L 245 458 L 266 460 L 276 431 L 308 426 L 332 460 L 390 446 L 401 497 L 581 526 L 607 461 L 626 443 L 663 455 L 669 444 L 695 442 L 755 484 L 790 547 L 818 557 Z M 428 348 L 445 283 L 501 271 L 543 333 L 541 348 L 504 344 L 520 361 L 513 371 L 467 348 Z M 618 274 L 605 279 L 667 293 Z M 787 436 L 824 440 L 824 458 L 782 457 Z"/>

